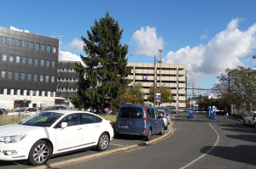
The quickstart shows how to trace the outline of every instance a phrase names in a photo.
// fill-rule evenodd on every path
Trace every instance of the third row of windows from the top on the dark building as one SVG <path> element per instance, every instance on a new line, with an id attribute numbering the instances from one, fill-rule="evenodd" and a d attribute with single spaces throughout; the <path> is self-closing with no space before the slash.
<path id="1" fill-rule="evenodd" d="M 32 75 L 31 73 L 6 72 L 2 71 L 2 79 L 33 81 L 33 82 L 55 82 L 55 76 Z M 33 77 L 33 78 L 32 78 Z"/>

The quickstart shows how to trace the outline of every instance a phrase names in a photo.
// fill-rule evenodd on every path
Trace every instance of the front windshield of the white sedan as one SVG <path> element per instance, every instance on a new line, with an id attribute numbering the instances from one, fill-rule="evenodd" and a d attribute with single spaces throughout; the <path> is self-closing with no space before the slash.
<path id="1" fill-rule="evenodd" d="M 21 121 L 21 125 L 36 126 L 36 127 L 50 127 L 55 121 L 57 121 L 62 115 L 61 113 L 44 112 L 38 115 L 34 115 L 31 118 L 27 118 L 25 121 Z"/>

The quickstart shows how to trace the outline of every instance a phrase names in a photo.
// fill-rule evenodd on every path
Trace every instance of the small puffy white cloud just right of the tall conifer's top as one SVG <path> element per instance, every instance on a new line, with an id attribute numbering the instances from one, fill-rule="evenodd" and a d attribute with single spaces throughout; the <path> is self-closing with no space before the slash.
<path id="1" fill-rule="evenodd" d="M 164 48 L 162 37 L 157 37 L 156 29 L 149 26 L 135 31 L 131 37 L 131 44 L 137 46 L 134 49 L 135 54 L 146 56 L 154 56 L 154 54 L 158 54 L 159 49 Z"/>

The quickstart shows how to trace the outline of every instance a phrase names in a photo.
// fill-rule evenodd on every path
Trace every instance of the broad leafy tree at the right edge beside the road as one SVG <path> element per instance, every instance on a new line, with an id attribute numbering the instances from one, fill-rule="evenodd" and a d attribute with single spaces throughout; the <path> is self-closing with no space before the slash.
<path id="1" fill-rule="evenodd" d="M 247 111 L 254 109 L 256 103 L 256 71 L 237 66 L 227 69 L 218 76 L 218 84 L 214 89 L 227 104 L 236 104 L 236 109 Z"/>

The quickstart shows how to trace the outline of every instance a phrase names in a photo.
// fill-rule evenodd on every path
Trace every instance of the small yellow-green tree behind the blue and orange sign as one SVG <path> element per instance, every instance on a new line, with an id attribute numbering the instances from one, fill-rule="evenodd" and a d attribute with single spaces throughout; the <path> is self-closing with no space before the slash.
<path id="1" fill-rule="evenodd" d="M 156 87 L 155 88 L 155 93 L 160 93 L 161 94 L 161 103 L 172 103 L 173 96 L 172 96 L 172 91 L 171 88 L 168 88 L 166 86 L 161 86 L 161 87 Z M 152 103 L 154 103 L 154 85 L 152 85 L 149 88 L 149 96 L 148 100 Z"/>

